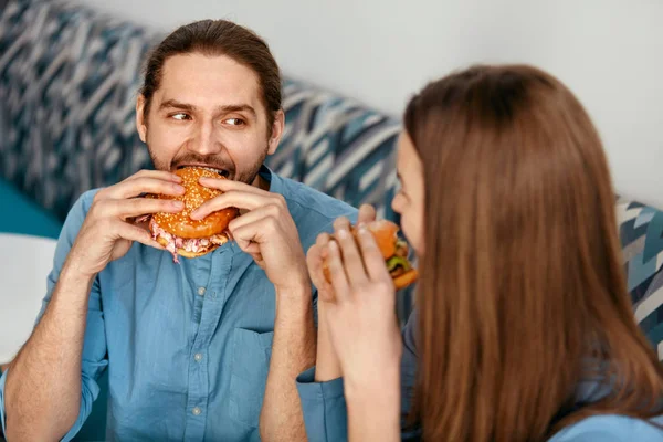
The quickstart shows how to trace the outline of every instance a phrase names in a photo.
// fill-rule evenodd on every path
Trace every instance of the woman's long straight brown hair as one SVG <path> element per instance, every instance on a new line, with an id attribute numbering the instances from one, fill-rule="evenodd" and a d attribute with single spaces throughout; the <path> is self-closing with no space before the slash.
<path id="1" fill-rule="evenodd" d="M 427 186 L 424 440 L 543 441 L 592 414 L 660 413 L 608 164 L 572 93 L 534 67 L 476 66 L 427 86 L 404 119 Z M 612 392 L 576 410 L 585 380 Z"/>

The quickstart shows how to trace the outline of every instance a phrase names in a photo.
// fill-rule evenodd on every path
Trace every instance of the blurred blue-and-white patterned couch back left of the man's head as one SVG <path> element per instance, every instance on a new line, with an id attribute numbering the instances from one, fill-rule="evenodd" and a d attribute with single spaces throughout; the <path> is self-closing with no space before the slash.
<path id="1" fill-rule="evenodd" d="M 63 220 L 86 189 L 148 162 L 134 107 L 147 31 L 86 9 L 12 1 L 0 18 L 0 172 Z"/>

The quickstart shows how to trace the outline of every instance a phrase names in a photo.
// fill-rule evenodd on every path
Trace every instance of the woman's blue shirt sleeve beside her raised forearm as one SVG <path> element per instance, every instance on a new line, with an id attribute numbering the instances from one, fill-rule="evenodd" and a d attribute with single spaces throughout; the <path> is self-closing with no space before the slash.
<path id="1" fill-rule="evenodd" d="M 401 359 L 401 411 L 406 428 L 410 410 L 412 388 L 417 373 L 414 327 L 417 313 L 413 313 L 403 329 L 403 356 Z M 315 367 L 297 377 L 297 390 L 302 401 L 306 435 L 311 442 L 343 442 L 348 440 L 348 411 L 345 401 L 343 378 L 327 382 L 315 381 Z M 404 440 L 414 436 L 417 431 L 403 431 Z"/>

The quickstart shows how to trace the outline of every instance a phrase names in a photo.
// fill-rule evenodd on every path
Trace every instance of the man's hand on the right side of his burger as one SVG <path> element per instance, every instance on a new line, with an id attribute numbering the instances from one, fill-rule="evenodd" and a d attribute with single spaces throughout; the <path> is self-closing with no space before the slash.
<path id="1" fill-rule="evenodd" d="M 266 272 L 277 292 L 308 286 L 297 227 L 281 194 L 223 179 L 201 178 L 200 183 L 223 193 L 201 204 L 191 219 L 200 220 L 229 207 L 243 209 L 245 212 L 228 227 L 240 249 Z"/>

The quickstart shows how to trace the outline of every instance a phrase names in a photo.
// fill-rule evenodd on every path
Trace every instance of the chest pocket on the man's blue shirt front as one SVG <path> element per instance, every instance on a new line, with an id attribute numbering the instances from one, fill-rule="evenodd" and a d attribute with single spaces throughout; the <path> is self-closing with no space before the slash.
<path id="1" fill-rule="evenodd" d="M 274 332 L 235 328 L 232 334 L 230 417 L 257 428 L 265 394 Z"/>

